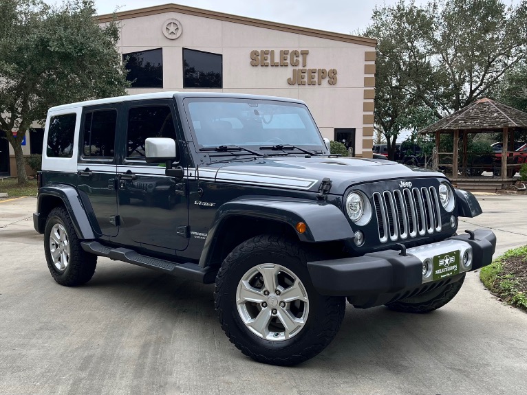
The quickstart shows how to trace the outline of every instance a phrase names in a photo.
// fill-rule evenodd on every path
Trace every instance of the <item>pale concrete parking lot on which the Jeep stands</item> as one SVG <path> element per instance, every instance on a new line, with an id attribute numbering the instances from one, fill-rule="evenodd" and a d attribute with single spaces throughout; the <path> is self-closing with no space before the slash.
<path id="1" fill-rule="evenodd" d="M 527 196 L 478 196 L 497 254 L 527 244 Z M 527 314 L 470 273 L 428 315 L 347 306 L 336 339 L 294 368 L 229 343 L 213 286 L 99 258 L 91 282 L 52 280 L 36 199 L 0 200 L 0 394 L 525 394 Z"/>

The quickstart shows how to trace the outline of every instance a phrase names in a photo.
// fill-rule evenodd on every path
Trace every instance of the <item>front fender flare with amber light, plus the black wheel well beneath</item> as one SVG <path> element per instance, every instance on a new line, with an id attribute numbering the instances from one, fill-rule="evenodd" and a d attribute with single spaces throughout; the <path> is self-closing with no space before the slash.
<path id="1" fill-rule="evenodd" d="M 296 225 L 306 225 L 304 233 Z M 229 232 L 235 229 L 235 232 Z M 351 239 L 353 232 L 338 207 L 303 199 L 250 197 L 217 210 L 200 257 L 201 267 L 219 267 L 237 245 L 260 234 L 275 234 L 311 245 Z"/>

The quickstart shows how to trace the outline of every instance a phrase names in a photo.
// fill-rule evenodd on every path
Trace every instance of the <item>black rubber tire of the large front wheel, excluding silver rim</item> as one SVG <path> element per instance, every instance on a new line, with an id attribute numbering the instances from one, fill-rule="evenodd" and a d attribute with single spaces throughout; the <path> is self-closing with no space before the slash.
<path id="1" fill-rule="evenodd" d="M 222 329 L 231 343 L 248 357 L 271 365 L 296 365 L 319 354 L 341 326 L 344 297 L 319 295 L 312 285 L 306 262 L 310 253 L 298 242 L 279 236 L 256 236 L 238 245 L 222 263 L 216 277 L 214 303 Z M 258 337 L 246 327 L 237 311 L 236 291 L 241 277 L 258 264 L 280 264 L 305 286 L 309 315 L 301 331 L 283 341 Z"/>

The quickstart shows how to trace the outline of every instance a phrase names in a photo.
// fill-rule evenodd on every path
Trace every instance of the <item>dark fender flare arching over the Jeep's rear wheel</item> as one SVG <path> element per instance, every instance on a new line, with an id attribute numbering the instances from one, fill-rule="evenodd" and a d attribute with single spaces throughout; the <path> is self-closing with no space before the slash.
<path id="1" fill-rule="evenodd" d="M 83 240 L 96 238 L 94 229 L 92 229 L 92 225 L 89 223 L 85 207 L 80 200 L 77 190 L 72 185 L 67 184 L 47 185 L 40 188 L 39 196 L 36 201 L 36 213 L 33 214 L 36 232 L 39 232 L 40 234 L 44 233 L 45 219 L 47 217 L 47 212 L 50 211 L 45 210 L 45 201 L 50 196 L 63 201 L 64 207 L 66 207 L 66 210 L 69 213 L 69 217 L 72 218 L 72 223 L 78 238 Z"/>

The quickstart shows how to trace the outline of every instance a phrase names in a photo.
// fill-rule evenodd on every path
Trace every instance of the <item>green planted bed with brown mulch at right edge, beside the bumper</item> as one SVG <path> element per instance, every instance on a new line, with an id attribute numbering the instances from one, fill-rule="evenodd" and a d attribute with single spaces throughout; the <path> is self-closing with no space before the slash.
<path id="1" fill-rule="evenodd" d="M 480 279 L 493 294 L 527 311 L 527 246 L 510 249 L 483 267 Z"/>

